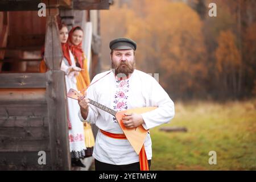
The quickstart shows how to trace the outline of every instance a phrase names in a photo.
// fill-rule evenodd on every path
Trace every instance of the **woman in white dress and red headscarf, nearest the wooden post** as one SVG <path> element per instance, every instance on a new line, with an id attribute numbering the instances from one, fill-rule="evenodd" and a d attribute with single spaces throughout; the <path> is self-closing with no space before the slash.
<path id="1" fill-rule="evenodd" d="M 63 50 L 63 60 L 61 61 L 60 69 L 65 72 L 65 85 L 67 92 L 69 89 L 77 90 L 76 77 L 79 75 L 81 68 L 76 66 L 75 57 L 72 55 L 69 49 L 68 40 L 68 28 L 65 24 L 59 24 L 59 38 L 61 47 Z M 44 49 L 42 51 L 42 55 Z M 46 72 L 47 66 L 44 60 L 40 63 L 40 72 Z M 68 102 L 68 135 L 69 135 L 69 149 L 71 152 L 71 164 L 72 166 L 85 167 L 80 159 L 85 158 L 85 135 L 84 126 L 80 121 L 77 113 L 79 112 L 79 105 L 76 100 L 67 98 Z"/>

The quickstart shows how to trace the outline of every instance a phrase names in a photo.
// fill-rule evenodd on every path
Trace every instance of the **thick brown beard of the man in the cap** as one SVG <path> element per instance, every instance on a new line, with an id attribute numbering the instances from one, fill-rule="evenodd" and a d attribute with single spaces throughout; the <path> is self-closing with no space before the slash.
<path id="1" fill-rule="evenodd" d="M 135 61 L 132 64 L 127 63 L 119 63 L 118 65 L 114 65 L 112 61 L 112 68 L 115 69 L 115 75 L 118 77 L 129 77 L 129 74 L 133 73 L 135 67 Z"/>

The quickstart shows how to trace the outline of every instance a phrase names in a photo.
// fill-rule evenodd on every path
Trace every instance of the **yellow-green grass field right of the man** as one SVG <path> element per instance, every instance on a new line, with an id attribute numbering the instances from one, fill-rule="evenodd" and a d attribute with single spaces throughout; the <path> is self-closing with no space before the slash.
<path id="1" fill-rule="evenodd" d="M 256 170 L 256 100 L 175 103 L 175 118 L 150 130 L 151 170 Z M 187 133 L 159 131 L 182 126 Z M 209 151 L 217 164 L 210 165 Z"/>

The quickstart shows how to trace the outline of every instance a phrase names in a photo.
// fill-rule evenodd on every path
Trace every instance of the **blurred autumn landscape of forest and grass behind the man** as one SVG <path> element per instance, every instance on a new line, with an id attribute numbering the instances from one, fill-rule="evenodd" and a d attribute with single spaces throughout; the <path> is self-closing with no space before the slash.
<path id="1" fill-rule="evenodd" d="M 255 0 L 115 0 L 100 15 L 102 71 L 110 40 L 127 36 L 137 69 L 159 73 L 175 102 L 175 118 L 150 130 L 152 170 L 256 170 Z M 159 130 L 170 127 L 187 132 Z"/>

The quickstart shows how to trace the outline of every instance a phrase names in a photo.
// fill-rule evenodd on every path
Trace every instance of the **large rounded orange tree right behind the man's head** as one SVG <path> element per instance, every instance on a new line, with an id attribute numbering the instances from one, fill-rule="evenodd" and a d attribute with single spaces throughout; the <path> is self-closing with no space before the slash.
<path id="1" fill-rule="evenodd" d="M 138 42 L 137 63 L 159 73 L 160 83 L 172 96 L 203 96 L 207 69 L 199 15 L 181 2 L 145 5 L 146 18 L 129 24 L 127 31 Z"/>

